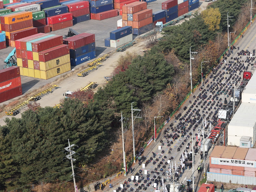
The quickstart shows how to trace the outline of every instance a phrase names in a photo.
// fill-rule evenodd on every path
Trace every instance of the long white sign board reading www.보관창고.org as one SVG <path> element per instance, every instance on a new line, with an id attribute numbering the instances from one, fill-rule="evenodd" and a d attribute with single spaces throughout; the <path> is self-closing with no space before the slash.
<path id="1" fill-rule="evenodd" d="M 225 159 L 225 158 L 212 157 L 211 163 L 215 165 L 229 165 L 229 166 L 256 168 L 256 161 L 249 161 L 249 160 Z"/>

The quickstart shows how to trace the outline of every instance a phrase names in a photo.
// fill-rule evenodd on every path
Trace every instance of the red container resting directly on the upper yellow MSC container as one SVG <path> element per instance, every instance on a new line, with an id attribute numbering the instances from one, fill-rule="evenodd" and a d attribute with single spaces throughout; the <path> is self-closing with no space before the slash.
<path id="1" fill-rule="evenodd" d="M 39 52 L 39 61 L 46 62 L 67 54 L 69 54 L 69 45 L 59 45 Z"/>

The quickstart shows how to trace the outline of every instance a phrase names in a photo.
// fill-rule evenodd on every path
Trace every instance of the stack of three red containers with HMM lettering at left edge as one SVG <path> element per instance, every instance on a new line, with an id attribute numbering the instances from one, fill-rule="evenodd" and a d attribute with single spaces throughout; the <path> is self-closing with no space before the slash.
<path id="1" fill-rule="evenodd" d="M 22 95 L 19 67 L 0 70 L 0 103 Z"/>

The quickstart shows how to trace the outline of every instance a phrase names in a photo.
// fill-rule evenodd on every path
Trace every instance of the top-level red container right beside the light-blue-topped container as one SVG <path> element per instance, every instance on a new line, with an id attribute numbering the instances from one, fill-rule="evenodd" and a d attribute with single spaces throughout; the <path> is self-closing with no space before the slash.
<path id="1" fill-rule="evenodd" d="M 51 47 L 56 47 L 63 44 L 63 37 L 60 35 L 55 35 L 40 41 L 31 43 L 33 52 L 40 52 Z"/>

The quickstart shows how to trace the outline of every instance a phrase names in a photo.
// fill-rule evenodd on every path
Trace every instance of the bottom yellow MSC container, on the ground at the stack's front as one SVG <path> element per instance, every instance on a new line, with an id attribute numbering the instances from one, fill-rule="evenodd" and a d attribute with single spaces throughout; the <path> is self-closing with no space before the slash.
<path id="1" fill-rule="evenodd" d="M 70 65 L 70 62 L 68 62 L 66 64 L 60 65 L 56 68 L 53 68 L 47 71 L 40 71 L 40 75 L 41 75 L 41 79 L 49 79 L 70 70 L 71 70 L 71 65 Z"/>

